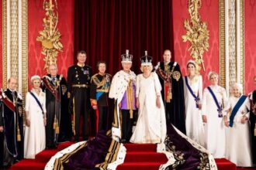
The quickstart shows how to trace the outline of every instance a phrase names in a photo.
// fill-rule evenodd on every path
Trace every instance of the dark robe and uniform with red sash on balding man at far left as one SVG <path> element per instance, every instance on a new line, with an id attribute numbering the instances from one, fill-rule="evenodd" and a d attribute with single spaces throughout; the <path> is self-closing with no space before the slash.
<path id="1" fill-rule="evenodd" d="M 9 166 L 23 158 L 22 97 L 15 90 L 0 92 L 0 166 Z"/>

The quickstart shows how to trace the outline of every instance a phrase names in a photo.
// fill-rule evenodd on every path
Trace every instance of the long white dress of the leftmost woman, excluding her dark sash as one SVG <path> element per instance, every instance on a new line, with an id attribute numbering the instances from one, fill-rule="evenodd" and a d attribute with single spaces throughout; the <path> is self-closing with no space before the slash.
<path id="1" fill-rule="evenodd" d="M 45 107 L 45 93 L 41 90 L 40 94 L 37 95 L 34 90 L 31 91 L 40 101 L 45 116 L 47 111 Z M 26 93 L 25 110 L 28 111 L 28 117 L 26 118 L 30 120 L 30 127 L 26 126 L 25 128 L 24 158 L 35 158 L 35 155 L 45 148 L 46 137 L 42 110 L 29 92 Z"/>

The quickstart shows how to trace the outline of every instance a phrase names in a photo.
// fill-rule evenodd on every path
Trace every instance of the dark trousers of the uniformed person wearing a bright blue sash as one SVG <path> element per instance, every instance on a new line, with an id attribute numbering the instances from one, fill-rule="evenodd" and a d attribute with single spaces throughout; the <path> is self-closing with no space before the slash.
<path id="1" fill-rule="evenodd" d="M 108 107 L 98 107 L 99 110 L 99 124 L 98 131 L 107 130 Z"/>

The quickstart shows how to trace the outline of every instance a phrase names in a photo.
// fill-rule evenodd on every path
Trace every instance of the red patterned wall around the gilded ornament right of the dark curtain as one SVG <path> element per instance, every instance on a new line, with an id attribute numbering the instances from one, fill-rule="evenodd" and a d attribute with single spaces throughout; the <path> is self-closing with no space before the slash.
<path id="1" fill-rule="evenodd" d="M 189 19 L 188 1 L 179 0 L 173 1 L 173 26 L 174 26 L 174 46 L 175 46 L 175 61 L 182 67 L 182 74 L 186 73 L 186 63 L 192 57 L 189 55 L 189 42 L 182 41 L 182 35 L 185 35 L 186 30 L 183 26 L 185 19 Z M 219 2 L 215 0 L 202 1 L 202 7 L 199 9 L 199 14 L 203 22 L 208 23 L 209 29 L 209 51 L 204 53 L 203 59 L 206 67 L 206 72 L 201 70 L 204 86 L 209 85 L 208 73 L 210 70 L 219 73 Z M 210 15 L 209 15 L 210 14 Z"/>

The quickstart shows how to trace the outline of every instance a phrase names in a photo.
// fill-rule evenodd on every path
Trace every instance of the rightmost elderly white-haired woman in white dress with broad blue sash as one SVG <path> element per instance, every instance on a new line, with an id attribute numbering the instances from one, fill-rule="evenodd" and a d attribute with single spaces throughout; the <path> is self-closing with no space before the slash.
<path id="1" fill-rule="evenodd" d="M 223 119 L 227 129 L 226 157 L 237 166 L 252 166 L 251 138 L 249 130 L 250 100 L 242 95 L 240 83 L 232 86 L 232 95 L 223 110 Z"/>

